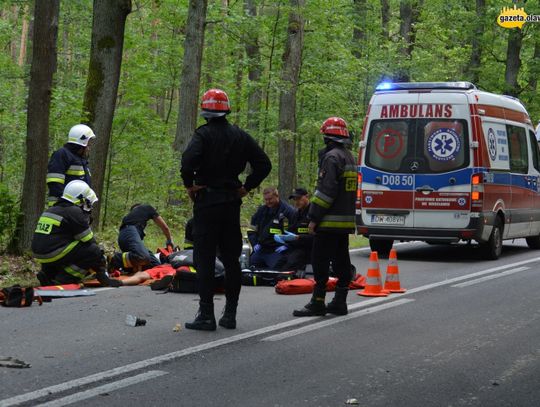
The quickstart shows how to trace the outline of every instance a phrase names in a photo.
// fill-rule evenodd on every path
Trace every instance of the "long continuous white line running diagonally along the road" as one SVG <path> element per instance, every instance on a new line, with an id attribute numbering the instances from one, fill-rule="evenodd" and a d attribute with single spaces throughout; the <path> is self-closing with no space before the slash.
<path id="1" fill-rule="evenodd" d="M 407 290 L 406 293 L 399 294 L 399 295 L 400 296 L 411 295 L 411 294 L 414 294 L 414 293 L 430 290 L 432 288 L 436 288 L 436 287 L 440 287 L 440 286 L 444 286 L 444 285 L 450 285 L 450 284 L 453 284 L 453 283 L 458 282 L 458 281 L 468 280 L 468 279 L 471 279 L 473 277 L 493 273 L 495 271 L 499 271 L 499 270 L 502 270 L 502 269 L 508 269 L 510 267 L 521 266 L 523 264 L 533 263 L 533 262 L 537 262 L 537 261 L 540 261 L 540 257 L 535 257 L 535 258 L 532 258 L 532 259 L 523 260 L 523 261 L 519 261 L 519 262 L 516 262 L 516 263 L 505 264 L 505 265 L 502 265 L 502 266 L 493 267 L 493 268 L 483 270 L 483 271 L 478 271 L 476 273 L 468 274 L 468 275 L 465 275 L 465 276 L 455 277 L 455 278 L 440 281 L 440 282 L 437 282 L 437 283 L 432 283 L 432 284 L 427 284 L 427 285 L 424 285 L 424 286 L 421 286 L 421 287 L 411 288 L 411 289 Z M 388 301 L 388 300 L 393 300 L 393 299 L 394 298 L 391 297 L 391 296 L 390 297 L 374 298 L 374 299 L 371 299 L 371 300 L 362 301 L 360 303 L 353 304 L 353 305 L 349 306 L 349 309 L 363 308 L 363 307 L 375 304 L 377 302 L 383 302 L 383 301 Z M 25 403 L 27 401 L 39 399 L 40 397 L 44 397 L 44 396 L 55 394 L 55 393 L 60 393 L 60 392 L 69 390 L 69 389 L 74 388 L 74 387 L 80 387 L 80 386 L 88 385 L 90 383 L 98 382 L 98 381 L 101 381 L 101 380 L 104 380 L 104 379 L 107 379 L 107 378 L 110 378 L 110 377 L 120 376 L 120 375 L 129 373 L 129 372 L 132 372 L 132 371 L 135 371 L 135 370 L 148 368 L 150 366 L 154 366 L 154 365 L 157 365 L 157 364 L 160 364 L 160 363 L 163 363 L 163 362 L 168 362 L 168 361 L 178 359 L 178 358 L 181 358 L 183 356 L 191 355 L 191 354 L 194 354 L 194 353 L 197 353 L 197 352 L 202 352 L 202 351 L 205 351 L 205 350 L 208 350 L 208 349 L 217 348 L 217 347 L 222 346 L 222 345 L 238 342 L 238 341 L 248 339 L 248 338 L 252 338 L 252 337 L 258 336 L 258 335 L 264 335 L 264 334 L 267 334 L 269 332 L 278 331 L 280 329 L 289 328 L 291 326 L 301 325 L 301 324 L 304 324 L 306 322 L 309 322 L 310 320 L 314 320 L 314 319 L 317 319 L 317 318 L 318 317 L 292 319 L 290 321 L 285 321 L 285 322 L 282 322 L 282 323 L 279 323 L 279 324 L 276 324 L 276 325 L 270 325 L 270 326 L 267 326 L 267 327 L 264 327 L 264 328 L 256 329 L 254 331 L 244 332 L 242 334 L 233 335 L 233 336 L 230 336 L 230 337 L 227 337 L 227 338 L 218 339 L 217 341 L 203 343 L 201 345 L 193 346 L 191 348 L 186 348 L 186 349 L 179 350 L 179 351 L 176 351 L 176 352 L 171 352 L 171 353 L 167 353 L 167 354 L 164 354 L 164 355 L 156 356 L 156 357 L 153 357 L 153 358 L 150 358 L 150 359 L 141 360 L 139 362 L 131 363 L 129 365 L 116 367 L 116 368 L 111 369 L 111 370 L 106 370 L 104 372 L 95 373 L 95 374 L 92 374 L 92 375 L 89 375 L 89 376 L 81 377 L 79 379 L 74 379 L 74 380 L 70 380 L 70 381 L 60 383 L 60 384 L 57 384 L 57 385 L 44 387 L 42 389 L 35 390 L 33 392 L 30 392 L 30 393 L 20 394 L 18 396 L 14 396 L 14 397 L 11 397 L 11 398 L 8 398 L 8 399 L 0 400 L 0 407 L 16 406 L 18 404 L 22 404 L 22 403 Z"/>

